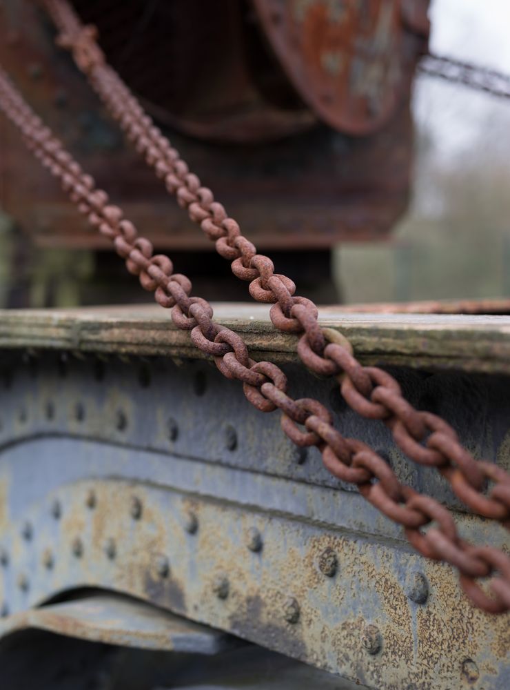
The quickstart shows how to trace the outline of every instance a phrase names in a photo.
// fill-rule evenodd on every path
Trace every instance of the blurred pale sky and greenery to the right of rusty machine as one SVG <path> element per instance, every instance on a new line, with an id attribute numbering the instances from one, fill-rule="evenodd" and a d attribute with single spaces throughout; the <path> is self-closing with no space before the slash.
<path id="1" fill-rule="evenodd" d="M 431 52 L 510 73 L 506 0 L 433 0 Z M 346 302 L 510 296 L 510 101 L 418 74 L 409 210 L 385 244 L 343 244 Z"/>

